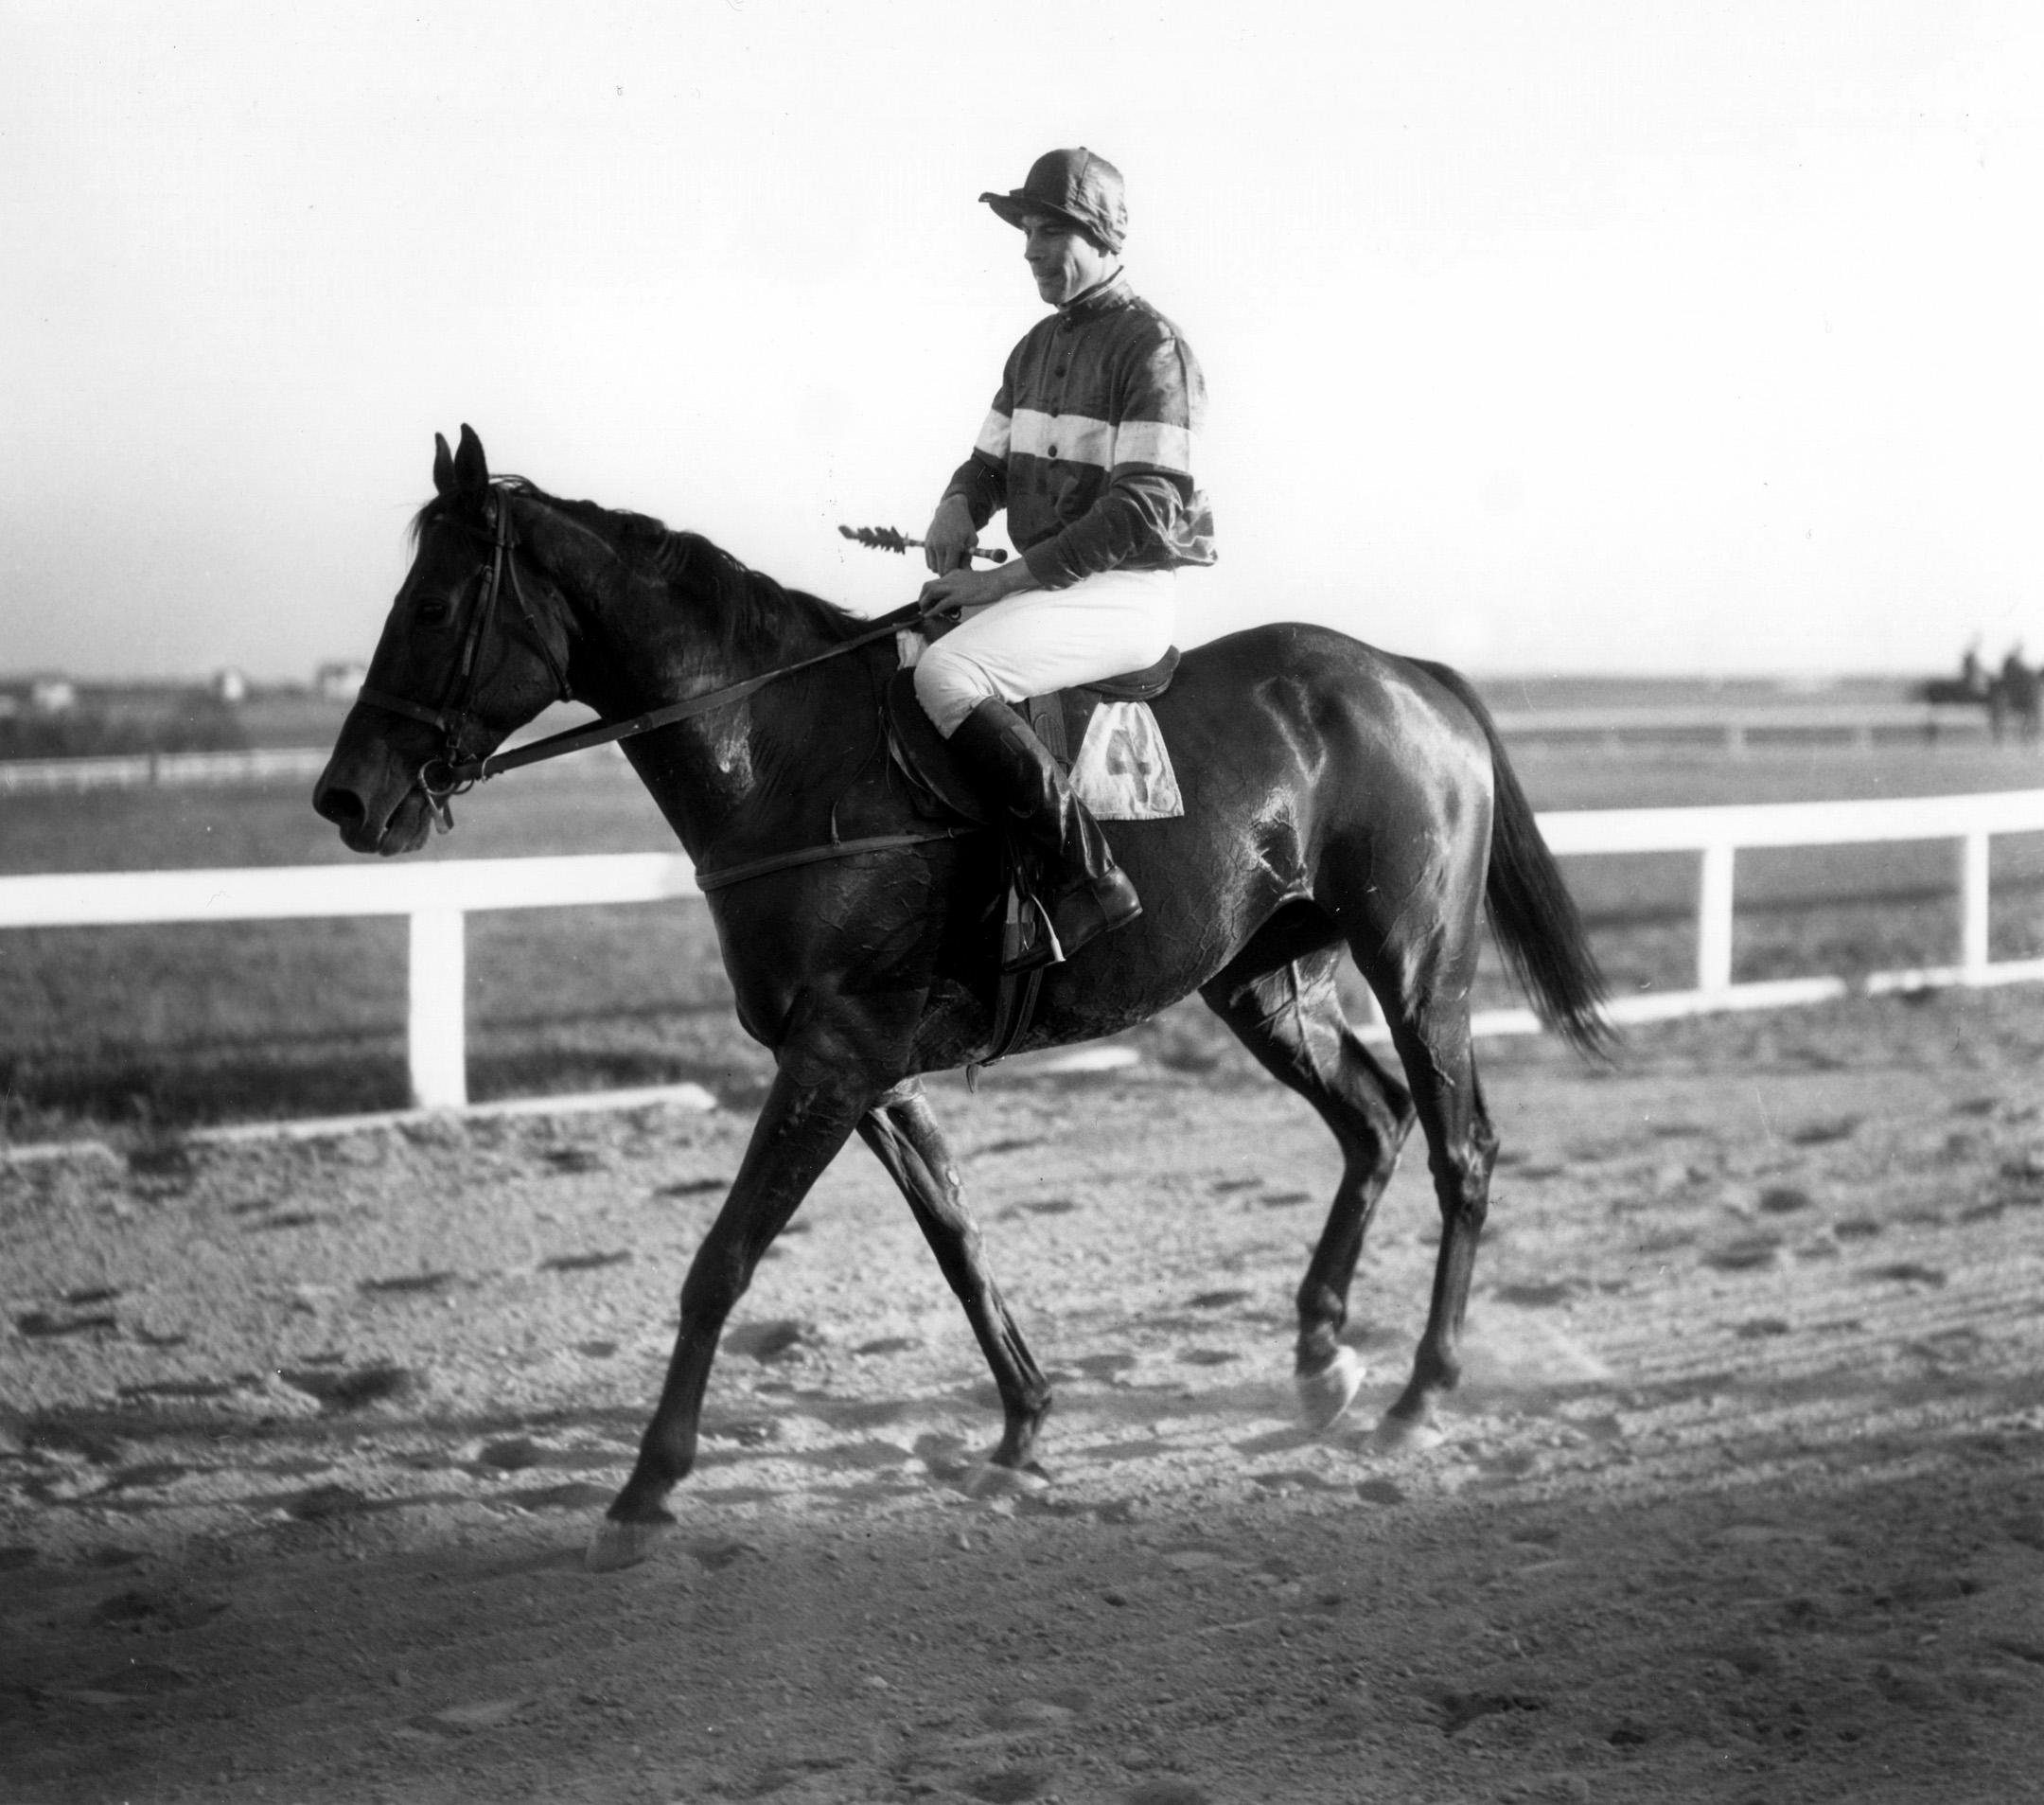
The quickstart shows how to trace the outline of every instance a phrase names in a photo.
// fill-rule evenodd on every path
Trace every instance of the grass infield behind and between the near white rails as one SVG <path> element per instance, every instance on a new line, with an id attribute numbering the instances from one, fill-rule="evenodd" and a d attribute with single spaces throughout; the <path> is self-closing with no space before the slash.
<path id="1" fill-rule="evenodd" d="M 2044 785 L 2044 760 L 1991 748 L 1515 754 L 1537 807 L 1678 807 L 1936 795 Z M 423 859 L 664 850 L 672 836 L 621 760 L 585 754 L 456 805 Z M 0 873 L 313 865 L 352 859 L 300 787 L 100 791 L 0 801 Z M 1570 883 L 1615 989 L 1694 971 L 1694 859 L 1572 859 Z M 2044 836 L 1995 844 L 1993 953 L 2044 953 Z M 1854 975 L 1956 953 L 1954 848 L 1739 859 L 1741 979 Z M 697 1079 L 758 1087 L 699 904 L 480 914 L 468 926 L 476 1096 Z M 1480 1006 L 1508 1000 L 1486 961 Z M 1204 1014 L 1159 1047 L 1198 1059 Z M 401 920 L 0 932 L 0 1137 L 333 1114 L 405 1102 Z"/>

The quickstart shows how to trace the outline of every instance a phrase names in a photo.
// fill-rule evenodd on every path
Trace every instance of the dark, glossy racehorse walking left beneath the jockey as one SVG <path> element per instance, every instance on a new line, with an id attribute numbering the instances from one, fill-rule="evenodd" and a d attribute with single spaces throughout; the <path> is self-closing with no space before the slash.
<path id="1" fill-rule="evenodd" d="M 356 852 L 421 846 L 558 697 L 593 705 L 695 861 L 738 1020 L 775 1079 L 681 1288 L 681 1325 L 630 1476 L 589 1545 L 644 1560 L 695 1462 L 724 1323 L 773 1239 L 856 1135 L 893 1177 L 979 1339 L 1002 1435 L 973 1490 L 1034 1490 L 1051 1386 L 987 1265 L 922 1075 L 987 1055 L 1000 834 L 932 826 L 889 765 L 893 632 L 783 589 L 689 531 L 493 478 L 435 433 L 413 562 L 313 805 Z M 503 597 L 509 593 L 511 603 Z M 515 605 L 513 605 L 515 603 Z M 1343 1171 L 1298 1288 L 1308 1427 L 1355 1398 L 1349 1284 L 1412 1124 L 1441 1249 L 1412 1374 L 1380 1423 L 1431 1445 L 1453 1388 L 1498 1137 L 1470 1047 L 1492 930 L 1543 1020 L 1609 1051 L 1602 975 L 1496 726 L 1466 679 L 1314 626 L 1183 654 L 1153 703 L 1186 812 L 1112 824 L 1145 914 L 1049 967 L 1020 1049 L 1114 1034 L 1194 991 L 1333 1130 Z M 1335 975 L 1376 991 L 1402 1075 L 1357 1038 Z"/>

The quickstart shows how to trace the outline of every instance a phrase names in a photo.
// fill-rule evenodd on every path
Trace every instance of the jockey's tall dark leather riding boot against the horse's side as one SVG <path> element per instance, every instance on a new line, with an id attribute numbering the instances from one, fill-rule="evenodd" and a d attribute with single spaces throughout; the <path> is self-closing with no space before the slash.
<path id="1" fill-rule="evenodd" d="M 1014 816 L 1051 863 L 1051 940 L 1014 961 L 1028 971 L 1069 959 L 1087 940 L 1124 928 L 1143 901 L 1108 850 L 1108 836 L 1044 750 L 1028 722 L 1000 697 L 987 697 L 950 736 L 967 779 L 987 801 Z M 1061 948 L 1061 951 L 1059 951 Z"/>

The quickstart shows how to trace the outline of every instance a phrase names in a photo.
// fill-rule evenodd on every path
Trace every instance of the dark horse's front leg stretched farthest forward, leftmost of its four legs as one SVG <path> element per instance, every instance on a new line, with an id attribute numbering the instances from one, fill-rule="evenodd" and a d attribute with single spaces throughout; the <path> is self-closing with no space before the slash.
<path id="1" fill-rule="evenodd" d="M 632 1478 L 597 1525 L 589 1545 L 591 1568 L 603 1572 L 644 1560 L 672 1525 L 666 1494 L 695 1466 L 703 1390 L 724 1323 L 752 1284 L 752 1271 L 775 1235 L 787 1227 L 879 1090 L 881 1083 L 863 1077 L 856 1063 L 836 1073 L 814 1059 L 783 1057 L 732 1194 L 689 1263 L 681 1286 L 681 1329 L 660 1404 L 646 1425 Z"/>

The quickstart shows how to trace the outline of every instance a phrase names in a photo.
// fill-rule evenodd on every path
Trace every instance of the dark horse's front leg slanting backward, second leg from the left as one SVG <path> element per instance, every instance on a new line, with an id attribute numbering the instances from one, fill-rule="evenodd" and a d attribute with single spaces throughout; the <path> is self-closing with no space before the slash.
<path id="1" fill-rule="evenodd" d="M 979 1222 L 965 1206 L 959 1163 L 944 1145 L 944 1130 L 936 1126 L 922 1087 L 910 1079 L 889 1092 L 858 1122 L 858 1137 L 908 1198 L 944 1280 L 965 1306 L 1002 1394 L 1006 1419 L 1002 1441 L 987 1455 L 987 1472 L 977 1478 L 973 1490 L 1040 1484 L 1042 1474 L 1030 1455 L 1036 1449 L 1036 1431 L 1051 1408 L 1051 1382 L 1030 1357 L 1022 1331 L 1016 1329 L 1000 1286 L 987 1271 Z"/>

